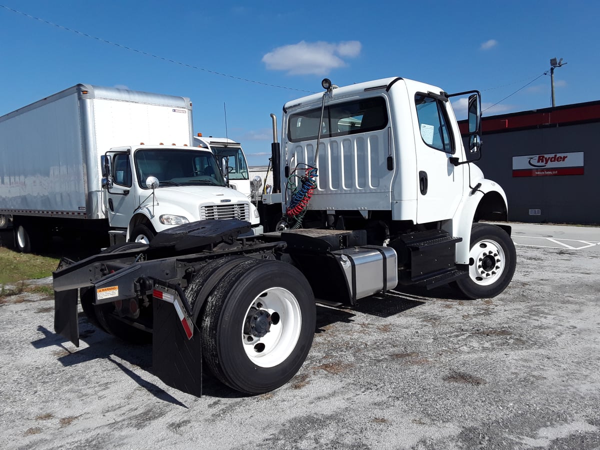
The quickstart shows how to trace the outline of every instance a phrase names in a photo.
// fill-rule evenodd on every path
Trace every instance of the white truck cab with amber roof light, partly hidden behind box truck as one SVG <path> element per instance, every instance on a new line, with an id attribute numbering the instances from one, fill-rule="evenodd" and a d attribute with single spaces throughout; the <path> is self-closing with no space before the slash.
<path id="1" fill-rule="evenodd" d="M 226 137 L 202 136 L 197 133 L 193 145 L 212 151 L 219 161 L 225 161 L 229 185 L 250 198 L 250 171 L 242 145 Z"/>

